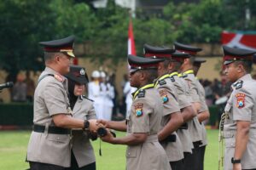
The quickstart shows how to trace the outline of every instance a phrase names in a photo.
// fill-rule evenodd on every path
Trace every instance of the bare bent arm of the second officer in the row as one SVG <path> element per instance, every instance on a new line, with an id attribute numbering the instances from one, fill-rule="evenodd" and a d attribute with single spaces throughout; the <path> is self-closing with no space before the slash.
<path id="1" fill-rule="evenodd" d="M 177 130 L 178 127 L 180 127 L 183 124 L 183 116 L 181 115 L 180 112 L 174 112 L 169 116 L 169 122 L 167 122 L 166 126 L 163 127 L 158 133 L 158 139 L 160 141 L 166 139 L 167 136 L 172 134 L 174 131 Z"/>

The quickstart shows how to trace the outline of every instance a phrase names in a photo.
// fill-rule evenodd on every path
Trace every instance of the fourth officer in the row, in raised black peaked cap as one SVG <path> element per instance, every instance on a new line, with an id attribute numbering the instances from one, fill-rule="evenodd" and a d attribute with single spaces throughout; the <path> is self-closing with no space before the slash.
<path id="1" fill-rule="evenodd" d="M 196 86 L 196 79 L 193 71 L 193 63 L 195 60 L 195 55 L 201 51 L 201 48 L 195 48 L 189 45 L 185 45 L 179 42 L 174 42 L 174 48 L 178 52 L 182 53 L 188 53 L 190 55 L 189 58 L 184 59 L 183 65 L 181 65 L 180 69 L 183 73 L 183 79 L 186 82 L 186 86 L 189 88 L 189 95 L 191 97 L 192 105 L 195 109 L 196 114 L 201 109 L 201 100 L 199 97 L 199 90 Z M 192 155 L 189 156 L 189 166 L 186 168 L 192 169 L 192 170 L 198 170 L 201 165 L 201 152 L 200 152 L 200 146 L 201 146 L 201 140 L 202 140 L 202 134 L 201 134 L 201 125 L 198 121 L 197 116 L 194 117 L 193 122 L 189 122 L 189 133 L 191 136 L 191 139 L 193 141 L 194 149 L 192 150 Z"/>

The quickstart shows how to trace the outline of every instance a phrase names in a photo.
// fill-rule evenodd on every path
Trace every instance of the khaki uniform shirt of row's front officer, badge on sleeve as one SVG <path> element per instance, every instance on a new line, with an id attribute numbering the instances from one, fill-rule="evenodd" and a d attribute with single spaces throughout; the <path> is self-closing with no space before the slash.
<path id="1" fill-rule="evenodd" d="M 131 105 L 131 114 L 127 119 L 127 135 L 148 133 L 143 144 L 128 145 L 126 150 L 127 170 L 170 170 L 166 152 L 160 145 L 157 133 L 162 118 L 160 95 L 154 84 L 138 89 Z"/>

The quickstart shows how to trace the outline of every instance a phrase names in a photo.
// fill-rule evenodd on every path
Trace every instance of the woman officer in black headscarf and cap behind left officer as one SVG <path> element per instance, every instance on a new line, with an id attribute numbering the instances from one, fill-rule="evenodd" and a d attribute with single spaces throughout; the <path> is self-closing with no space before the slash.
<path id="1" fill-rule="evenodd" d="M 73 117 L 81 120 L 96 119 L 93 101 L 83 95 L 88 83 L 85 69 L 79 65 L 71 65 L 65 77 L 68 80 L 69 102 Z M 96 170 L 96 158 L 89 140 L 96 139 L 96 133 L 73 129 L 72 135 L 71 167 L 66 170 Z"/>

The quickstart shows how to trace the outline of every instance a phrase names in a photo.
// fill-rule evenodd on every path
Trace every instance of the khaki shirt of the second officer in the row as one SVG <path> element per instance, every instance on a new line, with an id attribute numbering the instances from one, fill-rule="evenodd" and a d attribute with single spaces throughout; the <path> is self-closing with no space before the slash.
<path id="1" fill-rule="evenodd" d="M 163 118 L 161 122 L 162 128 L 170 121 L 170 115 L 177 111 L 180 111 L 180 107 L 177 103 L 177 93 L 176 89 L 172 84 L 173 79 L 166 74 L 160 77 L 155 82 L 155 88 L 157 88 L 162 99 L 162 105 L 164 106 Z M 166 101 L 165 101 L 166 99 Z M 183 156 L 183 144 L 177 136 L 176 132 L 173 132 L 172 135 L 176 135 L 176 142 L 166 142 L 161 141 L 160 144 L 166 150 L 166 154 L 169 158 L 169 161 L 179 161 L 184 158 Z"/>

